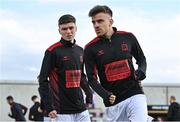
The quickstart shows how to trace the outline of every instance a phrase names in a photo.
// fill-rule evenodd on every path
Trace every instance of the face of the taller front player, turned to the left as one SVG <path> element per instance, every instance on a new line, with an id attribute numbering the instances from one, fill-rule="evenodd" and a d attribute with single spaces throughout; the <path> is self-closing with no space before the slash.
<path id="1" fill-rule="evenodd" d="M 92 23 L 97 36 L 106 36 L 112 28 L 113 20 L 109 14 L 98 13 L 92 17 Z"/>

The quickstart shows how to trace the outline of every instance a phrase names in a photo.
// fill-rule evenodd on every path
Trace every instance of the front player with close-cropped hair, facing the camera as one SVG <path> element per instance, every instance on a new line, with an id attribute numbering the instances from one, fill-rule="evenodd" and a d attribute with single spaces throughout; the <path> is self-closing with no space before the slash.
<path id="1" fill-rule="evenodd" d="M 74 39 L 77 31 L 72 15 L 58 21 L 61 39 L 50 46 L 39 75 L 39 93 L 45 113 L 57 121 L 90 121 L 86 103 L 92 103 L 92 91 L 83 71 L 83 49 Z"/>

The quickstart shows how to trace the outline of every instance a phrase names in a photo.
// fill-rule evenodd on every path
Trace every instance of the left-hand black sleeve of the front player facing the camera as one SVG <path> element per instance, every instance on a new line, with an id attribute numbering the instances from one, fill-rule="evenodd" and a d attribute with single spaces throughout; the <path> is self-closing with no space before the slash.
<path id="1" fill-rule="evenodd" d="M 41 71 L 39 75 L 39 94 L 43 103 L 44 112 L 49 113 L 53 110 L 52 108 L 52 97 L 49 86 L 49 74 L 53 68 L 53 54 L 48 50 L 45 52 Z"/>

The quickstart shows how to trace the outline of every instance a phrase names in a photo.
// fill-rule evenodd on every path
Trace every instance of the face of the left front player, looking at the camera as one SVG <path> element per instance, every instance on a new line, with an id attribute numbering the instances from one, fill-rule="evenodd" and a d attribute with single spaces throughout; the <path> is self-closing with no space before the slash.
<path id="1" fill-rule="evenodd" d="M 73 22 L 59 25 L 59 33 L 66 41 L 74 40 L 76 31 L 77 27 Z"/>

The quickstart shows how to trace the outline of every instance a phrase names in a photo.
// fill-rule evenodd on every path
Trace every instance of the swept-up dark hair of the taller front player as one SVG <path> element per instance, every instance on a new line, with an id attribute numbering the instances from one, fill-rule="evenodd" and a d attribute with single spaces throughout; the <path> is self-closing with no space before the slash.
<path id="1" fill-rule="evenodd" d="M 106 5 L 96 5 L 94 6 L 90 11 L 89 11 L 89 17 L 93 17 L 95 16 L 96 14 L 100 13 L 100 12 L 103 12 L 103 13 L 106 13 L 106 14 L 109 14 L 111 17 L 113 16 L 113 12 L 112 10 L 106 6 Z"/>

